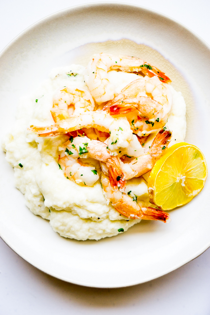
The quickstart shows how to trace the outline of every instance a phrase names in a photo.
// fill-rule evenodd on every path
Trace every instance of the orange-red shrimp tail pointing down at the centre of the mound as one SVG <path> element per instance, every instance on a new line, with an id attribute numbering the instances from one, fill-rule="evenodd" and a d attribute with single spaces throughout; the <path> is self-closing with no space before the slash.
<path id="1" fill-rule="evenodd" d="M 121 192 L 125 190 L 126 179 L 121 169 L 118 157 L 111 157 L 107 160 L 106 165 L 109 170 L 109 180 L 112 188 L 119 189 Z"/>

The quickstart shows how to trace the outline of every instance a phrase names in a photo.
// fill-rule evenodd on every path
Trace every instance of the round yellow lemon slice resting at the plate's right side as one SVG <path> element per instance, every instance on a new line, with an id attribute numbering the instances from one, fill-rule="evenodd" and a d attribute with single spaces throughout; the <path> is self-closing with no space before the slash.
<path id="1" fill-rule="evenodd" d="M 188 203 L 203 188 L 207 164 L 203 153 L 186 142 L 167 149 L 148 178 L 150 202 L 163 210 Z"/>

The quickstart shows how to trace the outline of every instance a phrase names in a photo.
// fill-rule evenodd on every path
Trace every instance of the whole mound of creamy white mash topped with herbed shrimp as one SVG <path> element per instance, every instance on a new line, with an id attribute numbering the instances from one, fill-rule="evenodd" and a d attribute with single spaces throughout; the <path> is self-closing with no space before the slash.
<path id="1" fill-rule="evenodd" d="M 133 56 L 100 53 L 86 67 L 53 69 L 21 98 L 4 141 L 27 207 L 77 240 L 170 221 L 147 186 L 155 163 L 185 138 L 186 105 L 170 83 Z"/>

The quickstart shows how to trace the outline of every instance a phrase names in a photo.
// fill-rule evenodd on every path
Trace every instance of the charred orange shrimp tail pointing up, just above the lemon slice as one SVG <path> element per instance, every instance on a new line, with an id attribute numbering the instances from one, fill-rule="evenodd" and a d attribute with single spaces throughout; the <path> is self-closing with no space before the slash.
<path id="1" fill-rule="evenodd" d="M 171 141 L 172 132 L 162 128 L 153 140 L 149 153 L 152 157 L 160 157 Z"/>

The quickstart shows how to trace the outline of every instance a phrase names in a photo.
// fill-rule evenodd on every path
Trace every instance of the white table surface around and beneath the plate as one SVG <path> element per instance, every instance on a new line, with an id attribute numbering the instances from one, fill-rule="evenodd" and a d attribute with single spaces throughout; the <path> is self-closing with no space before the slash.
<path id="1" fill-rule="evenodd" d="M 97 1 L 92 1 L 97 2 Z M 116 1 L 128 2 L 128 1 Z M 85 0 L 0 1 L 0 50 L 37 20 Z M 210 1 L 132 0 L 166 14 L 210 44 Z M 199 60 L 195 60 L 199 71 Z M 94 289 L 44 274 L 0 239 L 0 315 L 209 315 L 210 249 L 185 266 L 145 284 Z"/>

